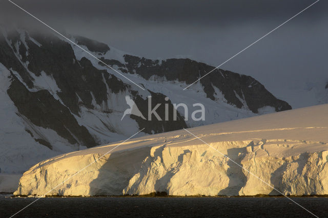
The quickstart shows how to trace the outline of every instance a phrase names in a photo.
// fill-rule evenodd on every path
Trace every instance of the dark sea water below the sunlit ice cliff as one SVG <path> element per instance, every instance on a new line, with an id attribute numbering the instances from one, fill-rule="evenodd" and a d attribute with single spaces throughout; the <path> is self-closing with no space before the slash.
<path id="1" fill-rule="evenodd" d="M 292 198 L 319 217 L 328 217 L 328 198 Z M 9 217 L 35 198 L 0 197 L 0 217 Z M 42 198 L 16 217 L 314 217 L 284 197 Z"/>

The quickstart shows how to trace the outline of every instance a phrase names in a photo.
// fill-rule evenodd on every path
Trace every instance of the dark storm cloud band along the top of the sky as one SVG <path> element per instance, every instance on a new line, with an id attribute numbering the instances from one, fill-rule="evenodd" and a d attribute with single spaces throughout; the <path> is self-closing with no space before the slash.
<path id="1" fill-rule="evenodd" d="M 6 0 L 2 1 L 7 9 L 2 13 L 14 15 L 12 18 L 26 18 Z M 5 3 L 6 2 L 6 3 Z M 248 20 L 279 20 L 290 17 L 313 0 L 226 0 L 226 1 L 73 1 L 73 0 L 15 0 L 16 4 L 37 13 L 44 18 L 79 18 L 89 20 L 94 18 L 112 19 L 117 21 L 133 19 L 141 23 L 156 24 L 202 24 L 230 25 L 240 24 Z M 318 19 L 326 16 L 326 1 L 321 0 L 315 12 L 306 13 L 300 19 Z M 10 6 L 9 6 L 10 5 Z M 321 5 L 321 6 L 320 6 Z M 9 7 L 8 7 L 9 6 Z"/>

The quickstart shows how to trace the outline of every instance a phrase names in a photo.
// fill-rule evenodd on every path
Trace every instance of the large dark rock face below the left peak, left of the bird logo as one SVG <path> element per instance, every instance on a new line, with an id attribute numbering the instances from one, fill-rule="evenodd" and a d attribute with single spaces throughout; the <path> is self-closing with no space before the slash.
<path id="1" fill-rule="evenodd" d="M 36 76 L 44 71 L 51 75 L 61 92 L 58 96 L 66 106 L 76 115 L 79 112 L 79 100 L 88 108 L 93 108 L 92 95 L 100 104 L 106 101 L 107 88 L 103 82 L 103 76 L 109 83 L 109 75 L 106 71 L 99 71 L 92 66 L 87 58 L 76 60 L 74 52 L 69 43 L 54 36 L 33 36 L 42 47 L 38 47 L 32 41 L 28 41 L 29 48 L 29 70 Z M 120 87 L 118 87 L 120 85 Z M 111 88 L 111 85 L 109 85 Z M 124 90 L 123 83 L 115 83 L 115 91 Z"/>

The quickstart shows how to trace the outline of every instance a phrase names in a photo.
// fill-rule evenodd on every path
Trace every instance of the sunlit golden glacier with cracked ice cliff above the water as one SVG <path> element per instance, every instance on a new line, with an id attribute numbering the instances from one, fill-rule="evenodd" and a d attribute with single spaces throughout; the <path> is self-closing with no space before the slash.
<path id="1" fill-rule="evenodd" d="M 119 142 L 71 152 L 30 168 L 14 194 L 328 194 L 327 123 L 324 104 L 189 129 L 208 144 L 177 130 L 131 139 L 99 160 Z"/>

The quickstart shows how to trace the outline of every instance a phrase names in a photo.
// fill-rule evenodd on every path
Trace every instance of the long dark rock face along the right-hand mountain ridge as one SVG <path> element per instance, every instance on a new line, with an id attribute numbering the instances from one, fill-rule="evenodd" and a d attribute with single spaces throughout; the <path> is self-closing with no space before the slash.
<path id="1" fill-rule="evenodd" d="M 187 84 L 193 83 L 214 69 L 205 63 L 190 59 L 167 59 L 159 63 L 158 60 L 125 55 L 125 61 L 129 73 L 135 72 L 145 79 L 157 75 L 167 80 L 178 80 Z M 258 113 L 258 109 L 263 106 L 272 106 L 277 112 L 292 109 L 287 102 L 275 98 L 251 76 L 216 69 L 202 78 L 200 83 L 208 98 L 215 100 L 213 86 L 216 86 L 228 103 L 238 108 L 247 106 L 253 113 Z M 240 99 L 243 99 L 246 105 Z"/>

